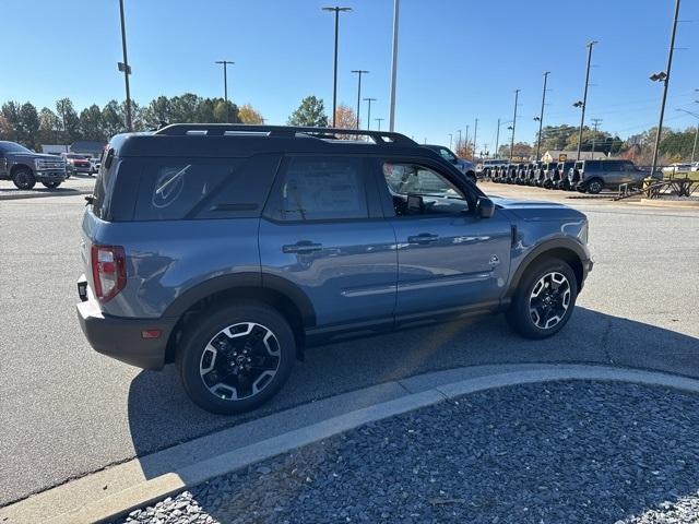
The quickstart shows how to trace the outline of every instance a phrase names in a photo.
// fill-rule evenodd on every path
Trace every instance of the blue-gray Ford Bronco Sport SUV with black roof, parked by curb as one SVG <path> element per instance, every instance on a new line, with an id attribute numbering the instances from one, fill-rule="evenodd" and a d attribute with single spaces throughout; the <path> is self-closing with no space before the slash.
<path id="1" fill-rule="evenodd" d="M 310 344 L 499 311 L 550 336 L 587 240 L 583 214 L 489 199 L 399 133 L 171 124 L 103 154 L 78 318 L 97 352 L 175 362 L 197 405 L 238 413 Z"/>

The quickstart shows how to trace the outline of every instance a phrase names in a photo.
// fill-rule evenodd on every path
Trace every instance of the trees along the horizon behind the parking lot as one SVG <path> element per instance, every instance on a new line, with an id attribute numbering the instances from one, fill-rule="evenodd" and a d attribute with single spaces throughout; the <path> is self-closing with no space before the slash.
<path id="1" fill-rule="evenodd" d="M 180 96 L 158 96 L 145 106 L 131 103 L 134 131 L 157 129 L 175 122 L 218 122 L 264 123 L 264 118 L 251 105 L 240 107 L 223 98 L 204 98 L 192 93 Z M 298 108 L 287 119 L 289 126 L 328 127 L 332 124 L 322 98 L 305 97 Z M 360 127 L 364 126 L 359 122 Z M 340 104 L 335 111 L 335 126 L 342 129 L 357 127 L 356 112 L 347 105 Z M 670 164 L 689 159 L 691 156 L 696 128 L 686 130 L 663 129 L 660 143 L 660 162 Z M 55 108 L 36 107 L 26 102 L 5 102 L 0 107 L 0 140 L 10 140 L 38 150 L 42 144 L 70 144 L 76 140 L 107 141 L 117 133 L 126 131 L 126 103 L 109 100 L 99 107 L 93 104 L 78 112 L 70 98 L 56 102 Z M 631 135 L 626 140 L 607 131 L 584 127 L 581 151 L 602 152 L 612 156 L 629 158 L 637 164 L 650 164 L 653 155 L 657 128 Z M 577 126 L 546 126 L 541 134 L 541 154 L 546 151 L 576 151 L 578 148 L 579 128 Z M 531 157 L 536 153 L 536 142 L 517 142 L 513 156 Z M 479 156 L 473 151 L 473 144 L 457 144 L 458 155 L 471 158 Z M 508 158 L 510 144 L 498 147 L 498 155 Z"/>

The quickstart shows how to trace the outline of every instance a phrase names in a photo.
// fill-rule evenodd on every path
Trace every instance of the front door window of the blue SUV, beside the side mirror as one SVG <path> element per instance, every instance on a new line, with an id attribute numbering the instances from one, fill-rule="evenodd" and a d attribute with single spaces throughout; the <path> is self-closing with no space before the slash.
<path id="1" fill-rule="evenodd" d="M 383 178 L 396 216 L 461 213 L 469 202 L 443 176 L 412 163 L 383 163 Z"/>

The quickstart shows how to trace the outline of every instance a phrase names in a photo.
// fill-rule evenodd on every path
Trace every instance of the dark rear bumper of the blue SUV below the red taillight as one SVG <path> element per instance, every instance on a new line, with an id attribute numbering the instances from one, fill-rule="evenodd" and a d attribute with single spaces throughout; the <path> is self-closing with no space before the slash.
<path id="1" fill-rule="evenodd" d="M 78 281 L 81 301 L 76 305 L 78 321 L 87 342 L 97 353 L 143 369 L 161 369 L 165 364 L 167 341 L 177 319 L 131 319 L 111 317 L 87 289 L 85 276 Z M 157 338 L 143 338 L 144 331 L 159 330 Z"/>

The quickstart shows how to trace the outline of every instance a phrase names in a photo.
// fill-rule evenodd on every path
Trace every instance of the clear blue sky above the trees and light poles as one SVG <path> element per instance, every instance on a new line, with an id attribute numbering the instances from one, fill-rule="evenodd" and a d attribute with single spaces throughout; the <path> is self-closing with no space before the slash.
<path id="1" fill-rule="evenodd" d="M 250 103 L 269 123 L 284 123 L 300 99 L 332 105 L 333 15 L 324 0 L 125 0 L 131 93 L 145 104 L 185 92 L 221 96 L 217 59 L 234 60 L 230 98 Z M 378 98 L 388 118 L 392 0 L 346 0 L 342 15 L 339 100 L 356 105 L 356 75 L 367 69 L 363 97 Z M 590 118 L 627 136 L 656 122 L 674 0 L 402 0 L 396 130 L 448 143 L 458 129 L 478 146 L 495 143 L 496 120 L 512 118 L 521 88 L 517 140 L 532 141 L 542 72 L 549 70 L 545 123 L 578 124 L 585 43 L 594 49 Z M 123 98 L 118 0 L 3 0 L 0 102 L 54 107 L 68 96 L 76 109 Z M 699 104 L 699 0 L 683 0 L 666 123 L 694 126 L 676 111 Z M 14 21 L 17 21 L 16 23 Z M 366 103 L 362 111 L 366 116 Z M 388 120 L 383 122 L 386 127 Z M 376 127 L 376 121 L 371 122 Z M 500 143 L 507 133 L 502 128 Z"/>

